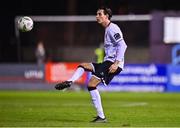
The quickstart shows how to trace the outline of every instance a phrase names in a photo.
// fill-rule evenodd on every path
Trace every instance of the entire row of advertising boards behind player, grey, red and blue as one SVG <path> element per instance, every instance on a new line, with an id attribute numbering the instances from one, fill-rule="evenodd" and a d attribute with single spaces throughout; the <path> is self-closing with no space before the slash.
<path id="1" fill-rule="evenodd" d="M 69 79 L 79 63 L 0 64 L 0 88 L 13 83 L 8 89 L 53 89 L 51 85 Z M 87 85 L 91 73 L 85 73 L 76 84 Z M 18 84 L 16 84 L 18 83 Z M 23 84 L 21 84 L 23 83 Z M 29 84 L 32 83 L 32 84 Z M 36 85 L 41 83 L 41 85 Z M 29 84 L 25 88 L 25 84 Z M 21 85 L 21 86 L 20 86 Z M 15 87 L 17 86 L 17 87 Z M 180 66 L 166 64 L 128 64 L 111 81 L 98 86 L 101 91 L 180 92 Z"/>

